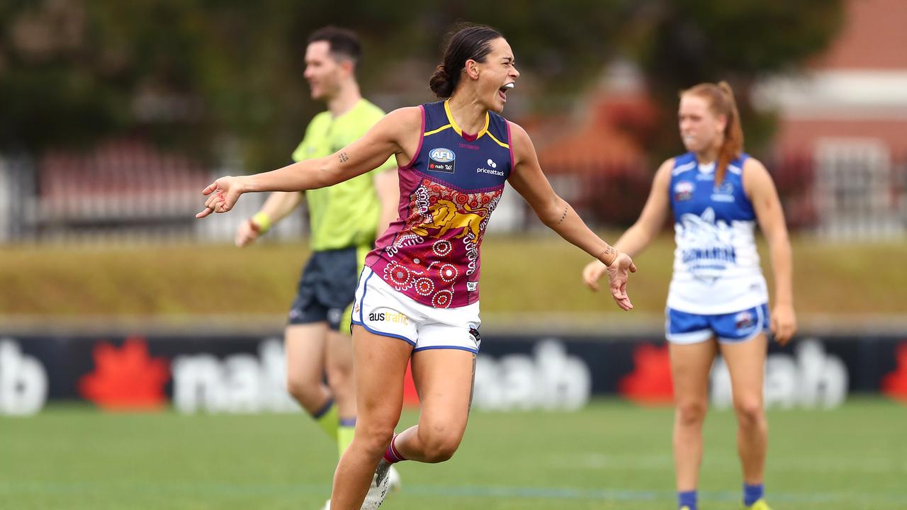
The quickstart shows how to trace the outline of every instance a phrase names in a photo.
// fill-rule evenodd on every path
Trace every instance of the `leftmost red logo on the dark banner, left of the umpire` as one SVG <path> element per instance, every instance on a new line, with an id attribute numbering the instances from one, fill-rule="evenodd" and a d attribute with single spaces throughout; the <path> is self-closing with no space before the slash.
<path id="1" fill-rule="evenodd" d="M 79 379 L 85 399 L 106 410 L 158 410 L 166 404 L 170 367 L 166 359 L 148 355 L 144 338 L 126 338 L 122 348 L 99 343 L 93 358 L 94 372 Z"/>

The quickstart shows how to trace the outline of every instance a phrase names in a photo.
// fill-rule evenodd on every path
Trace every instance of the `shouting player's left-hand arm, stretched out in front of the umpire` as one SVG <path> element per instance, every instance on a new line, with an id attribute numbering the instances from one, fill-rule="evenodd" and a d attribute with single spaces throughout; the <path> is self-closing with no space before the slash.
<path id="1" fill-rule="evenodd" d="M 414 155 L 422 129 L 422 111 L 408 107 L 386 114 L 362 138 L 327 156 L 293 163 L 271 172 L 221 177 L 202 194 L 208 196 L 205 209 L 196 214 L 204 218 L 211 212 L 227 212 L 250 191 L 305 191 L 332 186 L 374 170 L 391 155 L 409 161 Z M 410 135 L 410 136 L 407 136 Z"/>

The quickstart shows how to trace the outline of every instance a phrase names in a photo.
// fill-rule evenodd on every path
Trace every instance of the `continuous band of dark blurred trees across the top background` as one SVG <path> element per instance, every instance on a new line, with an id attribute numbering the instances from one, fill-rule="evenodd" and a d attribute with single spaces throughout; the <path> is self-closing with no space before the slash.
<path id="1" fill-rule="evenodd" d="M 747 136 L 765 138 L 771 123 L 749 113 L 747 87 L 824 48 L 841 10 L 841 0 L 0 0 L 0 151 L 125 133 L 210 159 L 237 140 L 250 171 L 272 168 L 322 108 L 302 76 L 312 30 L 356 30 L 366 96 L 393 89 L 415 103 L 431 99 L 427 78 L 457 20 L 501 29 L 532 76 L 521 91 L 536 98 L 576 93 L 620 55 L 639 62 L 666 112 L 680 88 L 728 79 Z M 654 150 L 676 140 L 672 117 L 649 138 Z"/>

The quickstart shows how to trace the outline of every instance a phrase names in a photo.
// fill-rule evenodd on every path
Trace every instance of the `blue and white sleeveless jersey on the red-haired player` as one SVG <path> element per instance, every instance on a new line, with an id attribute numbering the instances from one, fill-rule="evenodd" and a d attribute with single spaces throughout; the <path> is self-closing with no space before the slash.
<path id="1" fill-rule="evenodd" d="M 715 185 L 715 163 L 686 153 L 674 160 L 671 209 L 677 249 L 668 308 L 697 314 L 730 313 L 766 303 L 753 230 L 756 212 L 743 189 L 741 155 Z"/>

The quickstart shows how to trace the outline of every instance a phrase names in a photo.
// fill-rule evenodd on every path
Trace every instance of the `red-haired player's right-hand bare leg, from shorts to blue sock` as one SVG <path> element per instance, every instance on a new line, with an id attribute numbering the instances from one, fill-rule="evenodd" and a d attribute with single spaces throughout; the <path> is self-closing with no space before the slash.
<path id="1" fill-rule="evenodd" d="M 762 387 L 766 369 L 765 334 L 740 343 L 721 344 L 721 356 L 731 375 L 737 418 L 737 452 L 746 484 L 763 482 L 768 448 L 768 420 Z"/>

